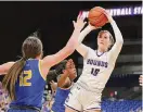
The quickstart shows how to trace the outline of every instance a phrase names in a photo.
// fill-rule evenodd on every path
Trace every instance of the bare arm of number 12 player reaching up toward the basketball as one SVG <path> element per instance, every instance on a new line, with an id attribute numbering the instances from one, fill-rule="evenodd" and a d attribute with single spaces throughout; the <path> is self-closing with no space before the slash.
<path id="1" fill-rule="evenodd" d="M 43 60 L 42 60 L 43 67 L 44 66 L 51 67 L 51 66 L 60 63 L 62 60 L 64 60 L 65 58 L 67 58 L 75 51 L 75 49 L 78 45 L 77 39 L 78 39 L 78 37 L 80 35 L 80 30 L 83 28 L 84 24 L 86 24 L 86 22 L 83 22 L 83 20 L 80 17 L 77 18 L 77 22 L 74 22 L 75 29 L 74 29 L 73 35 L 70 36 L 67 45 L 62 50 L 60 50 L 57 53 L 43 58 Z"/>

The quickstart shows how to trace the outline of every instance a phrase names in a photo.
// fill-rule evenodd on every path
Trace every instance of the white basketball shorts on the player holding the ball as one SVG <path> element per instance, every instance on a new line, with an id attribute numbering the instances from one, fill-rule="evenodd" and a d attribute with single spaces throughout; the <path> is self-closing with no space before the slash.
<path id="1" fill-rule="evenodd" d="M 88 91 L 78 84 L 75 84 L 65 101 L 65 107 L 77 112 L 101 110 L 101 94 Z"/>

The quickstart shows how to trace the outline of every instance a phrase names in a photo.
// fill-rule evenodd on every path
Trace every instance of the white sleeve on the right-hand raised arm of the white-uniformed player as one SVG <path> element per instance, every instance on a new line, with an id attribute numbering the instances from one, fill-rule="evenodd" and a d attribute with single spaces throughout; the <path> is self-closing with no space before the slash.
<path id="1" fill-rule="evenodd" d="M 123 39 L 122 39 L 122 35 L 116 24 L 115 21 L 112 21 L 112 26 L 113 26 L 113 30 L 115 34 L 115 39 L 116 42 L 114 43 L 113 48 L 109 50 L 108 54 L 109 54 L 109 60 L 115 63 L 115 61 L 117 60 L 117 57 L 122 48 L 123 45 Z"/>

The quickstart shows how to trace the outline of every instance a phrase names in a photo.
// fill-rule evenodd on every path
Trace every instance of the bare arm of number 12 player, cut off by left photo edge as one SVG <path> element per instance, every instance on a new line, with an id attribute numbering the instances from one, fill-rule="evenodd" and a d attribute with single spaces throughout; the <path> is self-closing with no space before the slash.
<path id="1" fill-rule="evenodd" d="M 0 65 L 0 75 L 4 75 L 12 67 L 15 62 L 6 62 Z"/>

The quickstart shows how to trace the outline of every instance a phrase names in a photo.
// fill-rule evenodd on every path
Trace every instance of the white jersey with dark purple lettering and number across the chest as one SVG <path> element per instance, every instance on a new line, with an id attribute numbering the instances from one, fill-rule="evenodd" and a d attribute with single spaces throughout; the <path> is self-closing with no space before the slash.
<path id="1" fill-rule="evenodd" d="M 96 50 L 89 47 L 87 49 L 88 53 L 83 59 L 82 74 L 77 84 L 88 90 L 102 92 L 114 70 L 120 47 L 117 49 L 115 46 L 110 51 L 102 54 L 98 54 Z"/>

